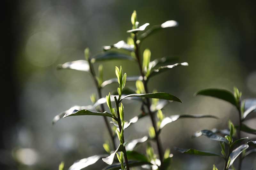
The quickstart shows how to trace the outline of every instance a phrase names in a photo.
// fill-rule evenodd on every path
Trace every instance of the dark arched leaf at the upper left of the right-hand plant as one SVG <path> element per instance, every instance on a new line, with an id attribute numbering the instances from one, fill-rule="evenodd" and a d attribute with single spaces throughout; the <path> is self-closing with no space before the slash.
<path id="1" fill-rule="evenodd" d="M 221 100 L 225 100 L 237 107 L 236 98 L 234 97 L 233 93 L 224 89 L 205 89 L 197 92 L 195 95 L 215 97 Z"/>

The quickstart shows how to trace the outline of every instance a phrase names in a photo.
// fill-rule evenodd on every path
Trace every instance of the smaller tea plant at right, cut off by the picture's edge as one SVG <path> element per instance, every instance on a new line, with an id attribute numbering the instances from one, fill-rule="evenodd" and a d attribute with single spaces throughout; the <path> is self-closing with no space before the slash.
<path id="1" fill-rule="evenodd" d="M 248 137 L 241 138 L 241 131 L 254 134 L 254 135 L 256 134 L 256 129 L 252 129 L 244 124 L 245 118 L 256 109 L 256 104 L 251 105 L 249 108 L 247 108 L 247 110 L 245 110 L 246 100 L 241 100 L 242 93 L 239 92 L 236 87 L 234 87 L 234 93 L 229 92 L 227 90 L 223 90 L 223 89 L 205 89 L 197 92 L 196 95 L 215 97 L 221 100 L 225 100 L 231 103 L 232 105 L 234 105 L 237 109 L 239 124 L 234 127 L 233 123 L 229 121 L 228 123 L 229 130 L 228 129 L 224 129 L 224 130 L 213 129 L 212 131 L 201 130 L 199 132 L 196 132 L 196 134 L 194 135 L 194 137 L 199 137 L 204 135 L 212 140 L 220 141 L 221 155 L 217 153 L 198 151 L 195 149 L 188 149 L 188 150 L 186 149 L 184 150 L 180 148 L 176 148 L 176 149 L 181 153 L 204 155 L 204 156 L 220 156 L 225 160 L 224 170 L 229 169 L 229 167 L 232 166 L 233 162 L 238 157 L 237 169 L 240 170 L 242 165 L 242 160 L 247 155 L 253 152 L 256 152 L 256 149 L 251 149 L 245 152 L 245 150 L 247 150 L 249 146 L 256 147 L 256 141 L 248 141 L 244 144 L 241 144 L 248 139 Z M 225 137 L 217 135 L 216 133 L 225 135 Z M 236 137 L 236 140 L 233 141 L 234 137 Z M 235 147 L 239 144 L 241 145 L 235 149 Z M 227 149 L 226 149 L 227 152 L 225 152 L 226 151 L 225 145 L 227 146 Z M 217 169 L 215 165 L 213 169 L 214 168 Z"/>

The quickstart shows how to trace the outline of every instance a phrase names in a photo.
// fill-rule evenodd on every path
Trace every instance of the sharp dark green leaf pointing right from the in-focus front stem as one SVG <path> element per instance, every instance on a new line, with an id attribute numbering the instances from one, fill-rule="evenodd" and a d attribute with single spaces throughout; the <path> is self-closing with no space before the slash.
<path id="1" fill-rule="evenodd" d="M 165 92 L 148 93 L 148 94 L 129 94 L 127 96 L 122 97 L 120 100 L 123 100 L 127 97 L 147 97 L 147 98 L 178 101 L 178 102 L 182 103 L 182 101 L 179 98 L 177 98 L 176 96 L 169 94 L 169 93 L 165 93 Z"/>

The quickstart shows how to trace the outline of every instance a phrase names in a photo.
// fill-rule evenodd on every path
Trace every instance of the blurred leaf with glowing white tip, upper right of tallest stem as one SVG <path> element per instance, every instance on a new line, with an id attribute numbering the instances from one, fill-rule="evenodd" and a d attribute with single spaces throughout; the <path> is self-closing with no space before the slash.
<path id="1" fill-rule="evenodd" d="M 177 21 L 174 21 L 174 20 L 166 21 L 166 22 L 164 22 L 161 25 L 152 26 L 145 33 L 141 34 L 139 39 L 140 39 L 140 41 L 142 41 L 146 37 L 148 37 L 149 35 L 152 35 L 153 33 L 155 33 L 156 31 L 158 31 L 158 30 L 160 30 L 162 28 L 176 27 L 176 26 L 178 26 L 178 22 Z"/>

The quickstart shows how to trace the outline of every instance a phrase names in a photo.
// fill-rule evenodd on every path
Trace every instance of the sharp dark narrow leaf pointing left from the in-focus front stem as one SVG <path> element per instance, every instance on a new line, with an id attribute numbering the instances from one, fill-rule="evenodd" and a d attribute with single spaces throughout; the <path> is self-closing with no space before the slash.
<path id="1" fill-rule="evenodd" d="M 62 118 L 68 117 L 68 116 L 83 116 L 83 115 L 95 115 L 95 116 L 107 116 L 111 117 L 113 119 L 116 119 L 113 115 L 107 112 L 92 112 L 89 110 L 74 110 L 73 113 L 65 114 Z"/>

